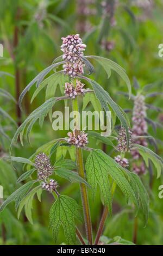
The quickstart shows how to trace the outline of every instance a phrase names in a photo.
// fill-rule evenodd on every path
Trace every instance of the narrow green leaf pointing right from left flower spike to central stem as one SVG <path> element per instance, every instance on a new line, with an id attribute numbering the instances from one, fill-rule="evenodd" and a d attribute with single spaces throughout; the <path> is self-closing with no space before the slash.
<path id="1" fill-rule="evenodd" d="M 74 179 L 84 183 L 88 187 L 91 187 L 82 177 L 80 177 L 76 172 L 73 172 L 73 170 L 68 170 L 65 168 L 56 168 L 54 169 L 54 171 L 57 175 L 69 180 L 70 182 L 72 182 L 72 179 Z"/>

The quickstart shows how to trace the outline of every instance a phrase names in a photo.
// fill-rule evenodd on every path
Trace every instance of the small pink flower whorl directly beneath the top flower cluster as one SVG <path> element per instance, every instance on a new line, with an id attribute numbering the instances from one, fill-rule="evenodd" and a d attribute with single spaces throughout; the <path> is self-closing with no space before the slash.
<path id="1" fill-rule="evenodd" d="M 79 80 L 76 81 L 76 88 L 73 87 L 72 83 L 65 83 L 65 95 L 68 95 L 74 99 L 77 94 L 84 94 L 85 89 L 84 83 L 81 83 Z"/>

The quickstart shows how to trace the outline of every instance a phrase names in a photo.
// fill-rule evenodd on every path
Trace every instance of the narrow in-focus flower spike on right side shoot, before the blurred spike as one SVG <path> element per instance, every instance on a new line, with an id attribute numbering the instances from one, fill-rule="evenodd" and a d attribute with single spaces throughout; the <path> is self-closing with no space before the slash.
<path id="1" fill-rule="evenodd" d="M 131 148 L 131 135 L 132 135 L 132 132 L 131 130 L 129 129 L 129 147 L 127 149 L 127 136 L 126 136 L 126 130 L 121 127 L 121 129 L 119 130 L 119 134 L 118 134 L 118 140 L 117 140 L 117 150 L 120 151 L 120 152 L 128 152 L 130 151 L 130 148 Z"/>

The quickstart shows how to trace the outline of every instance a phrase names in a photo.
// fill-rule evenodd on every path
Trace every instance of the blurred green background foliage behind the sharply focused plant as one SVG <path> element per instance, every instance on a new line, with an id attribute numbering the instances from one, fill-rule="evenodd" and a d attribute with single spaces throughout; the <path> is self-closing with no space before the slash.
<path id="1" fill-rule="evenodd" d="M 0 40 L 4 46 L 4 56 L 0 58 L 0 89 L 6 90 L 18 101 L 18 96 L 27 84 L 41 70 L 51 65 L 56 57 L 60 56 L 61 36 L 80 33 L 83 42 L 87 45 L 85 55 L 99 55 L 114 60 L 126 69 L 132 84 L 136 77 L 141 88 L 151 84 L 145 90 L 145 95 L 162 92 L 163 57 L 158 55 L 158 46 L 162 43 L 162 1 L 153 1 L 154 3 L 148 11 L 147 8 L 142 8 L 139 5 L 141 1 L 118 1 L 119 4 L 114 12 L 115 26 L 110 26 L 110 21 L 107 20 L 104 13 L 103 2 L 83 1 L 89 15 L 82 15 L 81 1 L 79 0 L 1 0 Z M 86 22 L 85 27 L 81 26 L 83 21 Z M 111 51 L 106 50 L 106 41 L 112 41 L 114 44 Z M 117 93 L 120 91 L 127 93 L 126 84 L 120 79 L 120 76 L 112 71 L 111 77 L 107 80 L 105 70 L 97 62 L 93 61 L 92 63 L 95 66 L 95 73 L 90 78 L 101 84 L 123 109 L 133 108 L 132 100 Z M 134 87 L 132 87 L 132 91 L 135 95 Z M 0 90 L 1 108 L 16 121 L 17 125 L 20 125 L 29 113 L 45 101 L 45 92 L 42 90 L 30 105 L 33 92 L 34 88 L 25 96 L 23 112 L 20 112 L 17 103 L 9 95 L 8 97 L 4 96 L 3 91 Z M 57 95 L 60 95 L 59 87 L 57 87 Z M 162 96 L 147 97 L 146 103 L 158 108 L 157 112 L 153 108 L 147 111 L 147 117 L 153 122 L 159 123 L 155 131 L 152 125 L 149 125 L 148 132 L 162 141 Z M 80 105 L 82 108 L 82 101 Z M 55 109 L 64 111 L 64 105 L 59 101 L 55 104 Z M 90 102 L 86 103 L 85 109 L 93 110 Z M 131 118 L 131 113 L 127 114 Z M 16 131 L 16 125 L 12 119 L 0 113 L 1 156 L 8 155 L 10 138 Z M 118 120 L 116 122 L 119 124 Z M 4 136 L 1 127 L 8 137 Z M 66 135 L 67 131 L 54 131 L 52 123 L 47 117 L 41 128 L 38 123 L 34 125 L 30 135 L 32 147 L 27 141 L 24 141 L 24 147 L 18 143 L 18 146 L 13 148 L 12 155 L 28 158 L 43 144 L 66 137 Z M 91 137 L 89 147 L 105 149 L 106 154 L 112 154 L 110 145 L 103 148 L 102 143 Z M 149 143 L 148 147 L 155 150 L 152 143 Z M 161 143 L 158 144 L 157 153 L 162 157 L 163 146 Z M 56 155 L 53 154 L 53 162 L 61 154 L 69 159 L 70 155 L 72 159 L 74 157 L 71 151 L 68 152 L 61 147 Z M 84 151 L 84 161 L 86 161 L 87 155 L 87 152 Z M 20 184 L 16 184 L 16 180 L 23 173 L 23 164 L 15 162 L 13 164 L 15 169 L 8 161 L 0 161 L 0 185 L 4 187 L 4 199 L 20 186 Z M 158 197 L 158 187 L 163 185 L 163 180 L 162 175 L 156 179 L 156 169 L 154 172 L 152 181 L 149 172 L 142 176 L 143 184 L 148 188 L 150 196 L 150 211 L 146 228 L 143 228 L 143 218 L 141 213 L 139 214 L 137 244 L 140 245 L 163 244 L 163 199 Z M 77 182 L 70 183 L 59 176 L 57 178 L 60 184 L 60 193 L 72 197 L 81 205 L 79 184 Z M 149 182 L 151 182 L 151 186 L 148 186 Z M 94 201 L 89 194 L 94 236 L 103 211 L 100 197 L 99 187 L 97 187 Z M 52 203 L 52 196 L 46 192 L 41 195 L 41 203 L 34 197 L 33 225 L 27 220 L 25 214 L 17 220 L 14 204 L 10 204 L 0 215 L 0 244 L 53 245 L 51 231 L 48 230 L 48 212 Z M 130 206 L 124 207 L 124 205 L 126 205 L 125 198 L 117 188 L 114 196 L 113 216 L 106 220 L 104 235 L 110 238 L 121 236 L 123 239 L 132 241 L 134 219 Z M 80 229 L 82 230 L 82 224 Z M 63 230 L 60 229 L 57 244 L 62 242 L 65 242 L 65 236 Z"/>

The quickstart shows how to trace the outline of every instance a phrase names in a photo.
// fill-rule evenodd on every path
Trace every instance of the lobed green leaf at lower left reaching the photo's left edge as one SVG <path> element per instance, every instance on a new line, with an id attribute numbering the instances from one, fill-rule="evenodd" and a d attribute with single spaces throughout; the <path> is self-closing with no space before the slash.
<path id="1" fill-rule="evenodd" d="M 14 193 L 12 193 L 1 205 L 0 212 L 12 201 L 15 201 L 15 210 L 17 210 L 18 205 L 20 205 L 21 200 L 26 196 L 27 192 L 32 188 L 34 185 L 34 180 L 29 181 L 24 184 L 22 187 L 18 188 Z"/>

